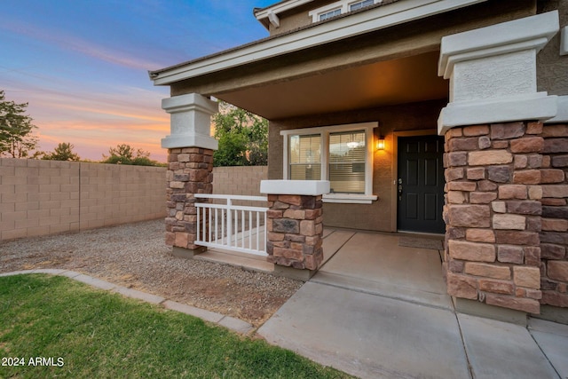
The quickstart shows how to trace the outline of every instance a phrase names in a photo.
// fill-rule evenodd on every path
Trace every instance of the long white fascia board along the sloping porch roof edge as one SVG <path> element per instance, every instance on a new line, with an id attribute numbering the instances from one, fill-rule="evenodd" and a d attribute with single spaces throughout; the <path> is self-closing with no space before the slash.
<path id="1" fill-rule="evenodd" d="M 485 1 L 487 0 L 402 0 L 370 9 L 367 12 L 324 22 L 296 33 L 227 51 L 209 59 L 188 63 L 182 67 L 174 67 L 162 71 L 152 80 L 154 85 L 168 85 L 258 60 L 308 49 L 323 43 L 335 42 L 351 36 L 359 36 L 371 31 L 450 12 L 472 4 L 484 3 Z"/>

